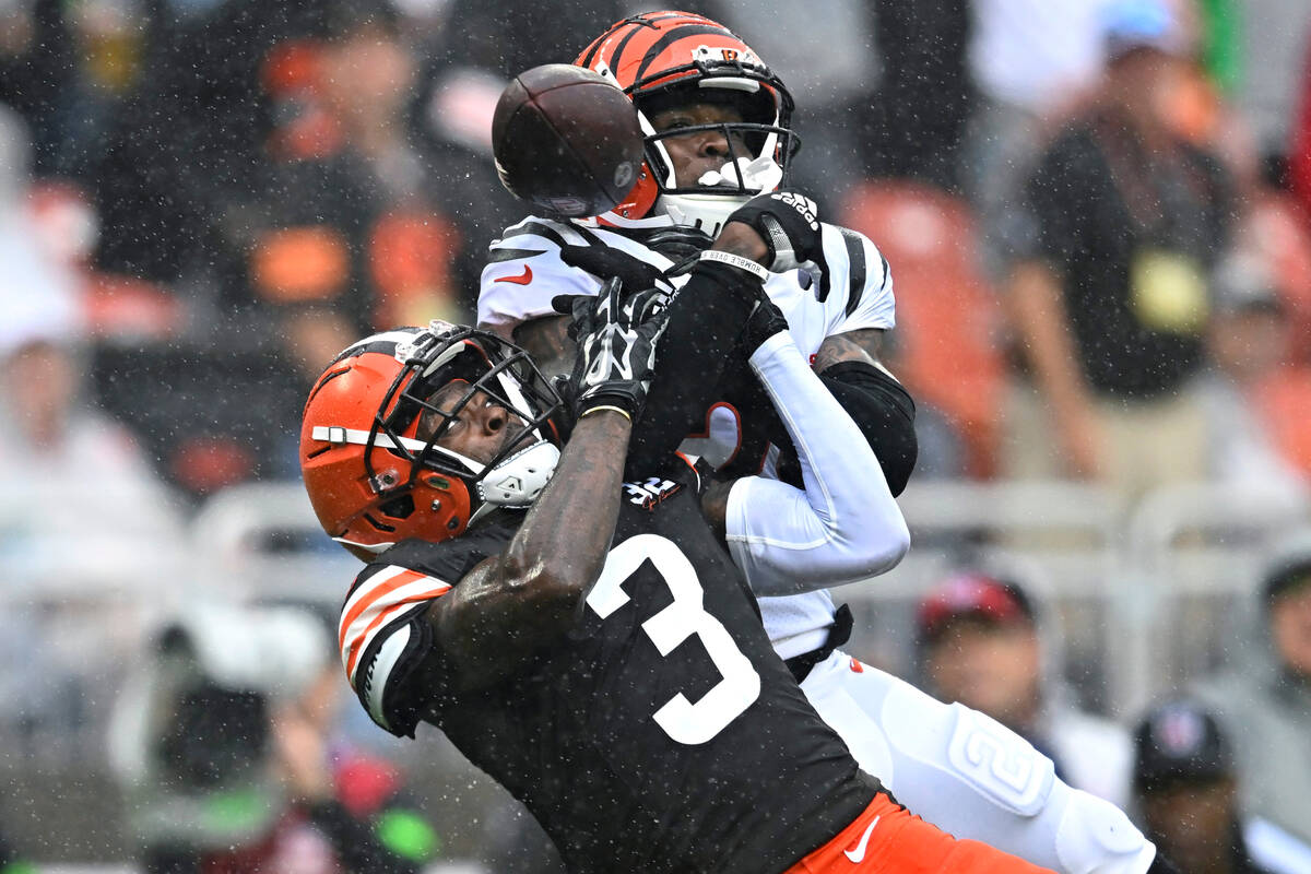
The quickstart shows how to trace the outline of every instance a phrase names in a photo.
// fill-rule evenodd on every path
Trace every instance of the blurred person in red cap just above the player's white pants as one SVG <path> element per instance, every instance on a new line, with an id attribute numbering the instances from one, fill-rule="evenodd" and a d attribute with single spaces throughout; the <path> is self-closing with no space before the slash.
<path id="1" fill-rule="evenodd" d="M 1129 735 L 1080 710 L 1044 663 L 1037 611 L 1016 583 L 962 573 L 920 600 L 916 634 L 926 691 L 1015 730 L 1071 786 L 1129 801 Z"/>

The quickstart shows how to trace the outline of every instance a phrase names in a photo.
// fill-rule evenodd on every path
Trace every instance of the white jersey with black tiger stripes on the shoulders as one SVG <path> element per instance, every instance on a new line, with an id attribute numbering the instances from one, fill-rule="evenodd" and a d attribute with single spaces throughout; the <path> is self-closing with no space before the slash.
<path id="1" fill-rule="evenodd" d="M 556 295 L 597 294 L 597 276 L 560 259 L 565 245 L 614 246 L 661 270 L 674 267 L 674 258 L 646 245 L 646 240 L 669 229 L 658 221 L 645 220 L 640 228 L 603 228 L 530 216 L 507 228 L 492 244 L 482 270 L 479 324 L 509 337 L 522 322 L 556 316 L 551 307 Z M 827 337 L 865 328 L 890 329 L 895 321 L 891 274 L 874 244 L 855 231 L 823 224 L 823 246 L 830 269 L 827 299 L 817 300 L 809 275 L 797 270 L 773 274 L 764 286 L 806 356 L 814 355 Z M 684 276 L 674 279 L 675 284 L 682 282 Z M 768 444 L 767 423 L 773 417 L 755 379 L 745 368 L 739 376 L 741 396 L 714 405 L 704 431 L 682 449 L 733 474 L 758 473 Z M 770 476 L 770 468 L 763 473 Z M 787 659 L 825 643 L 834 604 L 827 591 L 817 590 L 762 598 L 760 613 L 776 651 Z"/>

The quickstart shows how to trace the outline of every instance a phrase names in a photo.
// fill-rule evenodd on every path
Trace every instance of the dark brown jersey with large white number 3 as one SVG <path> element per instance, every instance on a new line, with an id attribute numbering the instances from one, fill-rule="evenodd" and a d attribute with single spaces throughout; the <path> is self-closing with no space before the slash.
<path id="1" fill-rule="evenodd" d="M 404 541 L 343 607 L 342 656 L 374 719 L 442 729 L 572 871 L 783 871 L 878 790 L 771 651 L 687 477 L 624 485 L 614 546 L 566 639 L 492 688 L 443 688 L 423 613 L 511 528 Z M 418 672 L 425 659 L 437 670 Z"/>

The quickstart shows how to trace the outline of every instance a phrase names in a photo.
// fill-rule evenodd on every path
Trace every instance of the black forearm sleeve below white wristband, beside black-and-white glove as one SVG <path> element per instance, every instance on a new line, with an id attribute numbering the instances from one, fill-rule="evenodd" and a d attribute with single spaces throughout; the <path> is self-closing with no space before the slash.
<path id="1" fill-rule="evenodd" d="M 670 304 L 656 376 L 628 448 L 627 477 L 650 476 L 720 400 L 720 381 L 763 283 L 737 267 L 700 262 Z"/>

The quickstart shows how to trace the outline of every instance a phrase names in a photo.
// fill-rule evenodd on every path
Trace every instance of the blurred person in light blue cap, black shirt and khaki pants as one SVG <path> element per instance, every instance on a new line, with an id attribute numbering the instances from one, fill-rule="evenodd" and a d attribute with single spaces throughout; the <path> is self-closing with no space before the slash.
<path id="1" fill-rule="evenodd" d="M 1114 3 L 1105 39 L 1095 104 L 1037 160 L 1012 229 L 1008 303 L 1029 384 L 1002 466 L 1133 499 L 1205 472 L 1194 377 L 1231 204 L 1218 160 L 1172 121 L 1189 62 L 1164 1 Z"/>

